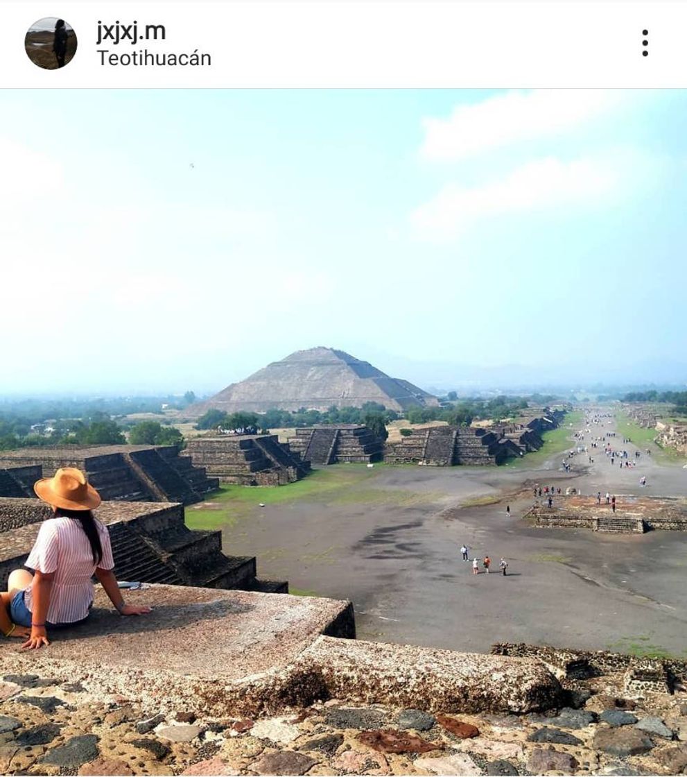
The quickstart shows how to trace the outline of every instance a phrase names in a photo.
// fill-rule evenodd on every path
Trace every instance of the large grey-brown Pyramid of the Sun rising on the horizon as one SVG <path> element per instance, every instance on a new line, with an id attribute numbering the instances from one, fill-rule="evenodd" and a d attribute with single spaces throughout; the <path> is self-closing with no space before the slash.
<path id="1" fill-rule="evenodd" d="M 326 410 L 332 405 L 362 407 L 365 402 L 379 402 L 392 410 L 439 404 L 435 396 L 408 381 L 390 378 L 367 361 L 342 350 L 317 347 L 273 361 L 189 411 L 200 416 L 210 408 L 227 413 L 301 407 Z"/>

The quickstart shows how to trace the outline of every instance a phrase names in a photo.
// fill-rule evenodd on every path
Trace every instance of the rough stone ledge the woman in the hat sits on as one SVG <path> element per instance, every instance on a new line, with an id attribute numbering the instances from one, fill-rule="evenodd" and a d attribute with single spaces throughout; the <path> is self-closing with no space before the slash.
<path id="1" fill-rule="evenodd" d="M 54 633 L 46 649 L 27 654 L 3 641 L 3 671 L 219 717 L 330 697 L 472 712 L 528 712 L 560 699 L 536 660 L 344 639 L 355 636 L 347 601 L 165 585 L 126 598 L 153 611 L 123 618 L 98 590 L 89 622 Z"/>

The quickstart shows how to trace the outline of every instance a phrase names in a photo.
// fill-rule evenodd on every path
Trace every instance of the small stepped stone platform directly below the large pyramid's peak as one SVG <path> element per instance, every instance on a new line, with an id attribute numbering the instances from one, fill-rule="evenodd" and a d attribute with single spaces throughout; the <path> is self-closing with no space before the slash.
<path id="1" fill-rule="evenodd" d="M 289 444 L 292 451 L 298 451 L 304 459 L 319 466 L 352 462 L 371 464 L 380 462 L 383 454 L 380 437 L 358 423 L 300 428 L 295 437 L 289 438 Z"/>

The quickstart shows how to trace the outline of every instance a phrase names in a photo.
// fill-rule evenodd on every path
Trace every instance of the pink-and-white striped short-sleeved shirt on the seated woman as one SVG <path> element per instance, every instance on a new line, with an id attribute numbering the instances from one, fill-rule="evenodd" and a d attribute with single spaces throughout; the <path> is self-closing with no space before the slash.
<path id="1" fill-rule="evenodd" d="M 102 570 L 114 568 L 109 532 L 95 521 L 102 546 Z M 75 518 L 47 518 L 40 527 L 33 549 L 24 566 L 44 574 L 55 573 L 46 621 L 73 623 L 88 615 L 93 601 L 91 578 L 95 573 L 91 543 Z M 33 612 L 33 584 L 26 588 L 24 601 Z"/>

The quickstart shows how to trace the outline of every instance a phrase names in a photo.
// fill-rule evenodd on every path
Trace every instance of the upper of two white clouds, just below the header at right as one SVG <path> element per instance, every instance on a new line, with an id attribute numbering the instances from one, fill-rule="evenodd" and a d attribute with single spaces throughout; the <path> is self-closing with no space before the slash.
<path id="1" fill-rule="evenodd" d="M 560 134 L 612 110 L 622 99 L 622 92 L 603 89 L 506 92 L 457 106 L 448 119 L 423 119 L 421 154 L 432 161 L 456 162 L 490 148 Z"/>

